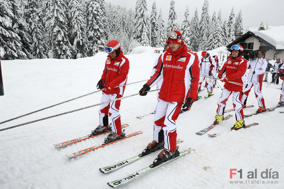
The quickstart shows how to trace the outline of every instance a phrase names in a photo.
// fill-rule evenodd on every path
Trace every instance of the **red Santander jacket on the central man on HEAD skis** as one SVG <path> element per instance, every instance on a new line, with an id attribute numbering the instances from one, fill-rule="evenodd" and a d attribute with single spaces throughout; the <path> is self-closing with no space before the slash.
<path id="1" fill-rule="evenodd" d="M 176 56 L 170 51 L 160 55 L 157 71 L 147 81 L 153 87 L 163 78 L 159 99 L 167 102 L 184 102 L 189 90 L 189 97 L 197 96 L 199 81 L 198 56 L 187 51 L 186 45 Z"/>

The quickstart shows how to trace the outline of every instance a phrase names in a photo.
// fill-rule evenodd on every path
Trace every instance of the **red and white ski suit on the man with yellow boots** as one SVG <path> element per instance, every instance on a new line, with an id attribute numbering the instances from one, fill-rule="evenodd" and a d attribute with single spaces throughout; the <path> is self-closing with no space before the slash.
<path id="1" fill-rule="evenodd" d="M 244 78 L 246 78 L 246 68 L 247 68 L 247 60 L 242 58 L 242 56 L 232 59 L 230 56 L 222 69 L 220 70 L 218 77 L 226 75 L 226 78 L 229 81 L 233 81 L 236 83 L 244 83 Z M 226 102 L 231 94 L 233 94 L 233 106 L 236 114 L 236 120 L 240 121 L 244 119 L 243 107 L 241 103 L 242 98 L 242 90 L 243 87 L 240 85 L 236 85 L 233 83 L 226 82 L 224 85 L 224 89 L 222 90 L 219 101 L 217 102 L 217 114 L 224 115 L 224 110 L 226 106 Z"/>

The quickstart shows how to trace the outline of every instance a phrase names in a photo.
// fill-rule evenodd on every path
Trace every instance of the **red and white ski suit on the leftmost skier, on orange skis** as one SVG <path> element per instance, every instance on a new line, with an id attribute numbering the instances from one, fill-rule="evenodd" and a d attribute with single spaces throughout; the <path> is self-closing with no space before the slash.
<path id="1" fill-rule="evenodd" d="M 101 103 L 121 98 L 123 96 L 125 86 L 116 87 L 118 85 L 125 85 L 127 81 L 129 71 L 129 61 L 120 51 L 119 56 L 112 59 L 110 55 L 107 56 L 105 61 L 105 69 L 101 79 L 104 83 L 104 88 L 110 87 L 111 90 L 104 90 Z M 115 88 L 116 87 L 116 88 Z M 112 123 L 112 132 L 121 134 L 121 121 L 120 121 L 120 100 L 113 101 L 111 103 L 105 103 L 100 105 L 99 120 L 100 125 L 103 125 L 103 117 L 110 115 Z M 107 118 L 108 119 L 108 118 Z"/>

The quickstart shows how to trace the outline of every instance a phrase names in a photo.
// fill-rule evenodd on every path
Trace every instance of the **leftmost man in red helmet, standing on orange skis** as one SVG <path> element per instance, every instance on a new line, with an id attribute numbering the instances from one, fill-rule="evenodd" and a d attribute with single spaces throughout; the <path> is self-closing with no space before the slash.
<path id="1" fill-rule="evenodd" d="M 129 61 L 123 55 L 119 41 L 111 40 L 108 42 L 105 47 L 105 52 L 109 55 L 105 60 L 103 75 L 97 84 L 98 89 L 105 88 L 105 90 L 103 90 L 101 102 L 118 99 L 123 96 L 125 86 L 116 86 L 126 84 L 129 70 Z M 100 105 L 100 109 L 98 110 L 99 125 L 92 131 L 93 134 L 111 129 L 108 124 L 109 114 L 112 123 L 112 133 L 107 136 L 107 140 L 115 140 L 116 138 L 121 138 L 125 135 L 121 132 L 119 106 L 120 100 Z"/>

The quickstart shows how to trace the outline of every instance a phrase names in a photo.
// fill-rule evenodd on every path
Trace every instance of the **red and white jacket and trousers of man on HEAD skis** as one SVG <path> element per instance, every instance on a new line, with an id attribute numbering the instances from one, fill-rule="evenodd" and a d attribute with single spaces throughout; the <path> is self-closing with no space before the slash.
<path id="1" fill-rule="evenodd" d="M 185 44 L 180 48 L 182 49 L 178 54 L 172 53 L 169 48 L 160 55 L 157 71 L 146 83 L 151 88 L 163 79 L 154 118 L 154 140 L 163 141 L 158 140 L 158 133 L 163 130 L 164 147 L 170 151 L 177 148 L 175 121 L 187 94 L 196 98 L 200 72 L 198 56 L 187 52 Z"/>

